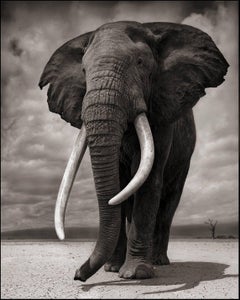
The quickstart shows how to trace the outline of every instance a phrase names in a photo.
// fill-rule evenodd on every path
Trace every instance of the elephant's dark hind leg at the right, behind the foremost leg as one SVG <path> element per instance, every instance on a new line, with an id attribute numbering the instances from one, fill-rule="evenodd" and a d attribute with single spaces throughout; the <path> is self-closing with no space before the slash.
<path id="1" fill-rule="evenodd" d="M 171 181 L 166 179 L 158 209 L 153 239 L 152 263 L 155 265 L 168 265 L 167 256 L 170 227 L 174 213 L 179 204 L 184 183 L 189 170 L 189 163 L 179 168 Z"/>

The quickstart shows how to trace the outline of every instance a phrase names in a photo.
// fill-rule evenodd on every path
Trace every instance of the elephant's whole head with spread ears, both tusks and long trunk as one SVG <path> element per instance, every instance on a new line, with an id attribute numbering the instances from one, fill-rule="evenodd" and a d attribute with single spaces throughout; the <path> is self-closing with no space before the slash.
<path id="1" fill-rule="evenodd" d="M 223 82 L 228 63 L 204 32 L 172 23 L 116 22 L 60 47 L 40 79 L 50 83 L 52 112 L 81 128 L 57 199 L 55 224 L 64 238 L 66 202 L 89 146 L 99 201 L 96 247 L 81 268 L 86 280 L 112 255 L 120 230 L 120 205 L 146 180 L 154 159 L 151 124 L 172 123 Z M 139 170 L 120 191 L 119 151 L 134 123 L 141 146 Z"/>

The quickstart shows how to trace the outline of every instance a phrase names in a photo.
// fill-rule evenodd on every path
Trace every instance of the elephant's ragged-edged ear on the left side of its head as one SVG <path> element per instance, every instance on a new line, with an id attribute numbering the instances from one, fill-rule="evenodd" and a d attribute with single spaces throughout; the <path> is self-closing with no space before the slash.
<path id="1" fill-rule="evenodd" d="M 49 110 L 78 128 L 82 125 L 82 101 L 86 92 L 82 57 L 91 34 L 83 34 L 58 48 L 39 81 L 41 89 L 50 83 L 47 93 Z"/>

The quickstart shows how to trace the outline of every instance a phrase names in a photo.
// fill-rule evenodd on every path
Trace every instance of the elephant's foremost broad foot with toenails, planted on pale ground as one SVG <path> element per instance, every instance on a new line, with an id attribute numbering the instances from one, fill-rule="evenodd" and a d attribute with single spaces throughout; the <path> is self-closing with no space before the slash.
<path id="1" fill-rule="evenodd" d="M 131 259 L 124 263 L 119 271 L 119 277 L 125 279 L 147 279 L 154 276 L 152 265 L 137 259 Z"/>

